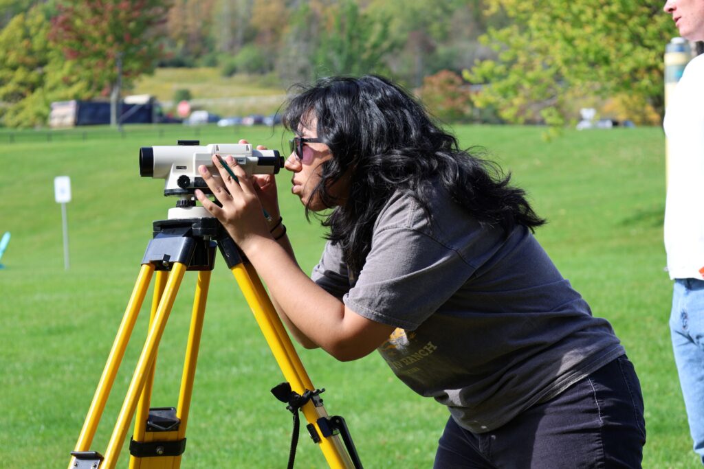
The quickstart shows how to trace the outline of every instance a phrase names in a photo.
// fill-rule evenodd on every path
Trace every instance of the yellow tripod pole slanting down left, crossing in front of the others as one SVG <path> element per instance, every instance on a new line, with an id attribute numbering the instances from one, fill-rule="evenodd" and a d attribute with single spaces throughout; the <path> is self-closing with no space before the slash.
<path id="1" fill-rule="evenodd" d="M 130 426 L 130 420 L 132 420 L 134 411 L 137 408 L 137 399 L 139 399 L 139 394 L 144 388 L 144 383 L 146 383 L 147 373 L 153 364 L 154 357 L 156 356 L 156 349 L 158 348 L 159 341 L 163 335 L 164 328 L 166 327 L 166 321 L 168 320 L 168 316 L 171 312 L 171 308 L 186 269 L 186 264 L 182 264 L 180 262 L 174 262 L 172 265 L 171 274 L 169 275 L 166 283 L 164 295 L 159 302 L 156 316 L 154 317 L 154 323 L 150 326 L 149 333 L 146 336 L 146 342 L 144 342 L 142 354 L 139 356 L 139 360 L 137 361 L 137 368 L 135 368 L 134 374 L 132 375 L 130 387 L 127 389 L 127 395 L 125 396 L 125 401 L 123 402 L 122 409 L 118 415 L 117 423 L 115 423 L 113 435 L 108 442 L 108 448 L 106 449 L 105 458 L 103 460 L 103 465 L 101 465 L 101 469 L 112 469 L 117 463 L 122 443 L 125 442 L 127 428 Z"/>

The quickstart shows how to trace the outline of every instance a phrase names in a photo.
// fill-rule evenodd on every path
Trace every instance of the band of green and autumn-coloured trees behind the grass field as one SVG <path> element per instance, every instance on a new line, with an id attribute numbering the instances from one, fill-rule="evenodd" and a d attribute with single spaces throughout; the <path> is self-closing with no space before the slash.
<path id="1" fill-rule="evenodd" d="M 0 0 L 0 125 L 109 96 L 157 67 L 288 87 L 378 73 L 443 120 L 564 124 L 580 106 L 658 122 L 659 3 L 613 0 Z M 118 73 L 120 70 L 120 73 Z"/>

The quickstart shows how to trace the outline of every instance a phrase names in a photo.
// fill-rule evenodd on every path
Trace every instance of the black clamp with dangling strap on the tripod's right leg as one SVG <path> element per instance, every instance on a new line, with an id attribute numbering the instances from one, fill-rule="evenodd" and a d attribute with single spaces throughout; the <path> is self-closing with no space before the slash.
<path id="1" fill-rule="evenodd" d="M 294 459 L 296 458 L 296 446 L 298 446 L 298 432 L 301 427 L 298 409 L 301 409 L 301 407 L 311 400 L 316 407 L 322 406 L 320 394 L 325 392 L 325 388 L 315 391 L 305 390 L 303 394 L 298 394 L 298 392 L 291 389 L 290 383 L 281 383 L 274 387 L 271 392 L 274 394 L 274 397 L 279 399 L 279 401 L 289 404 L 286 406 L 286 409 L 294 414 L 294 430 L 291 434 L 291 451 L 289 453 L 289 465 L 287 466 L 288 469 L 293 469 Z M 318 428 L 320 428 L 322 436 L 325 438 L 331 435 L 341 435 L 342 442 L 345 444 L 345 448 L 347 449 L 347 453 L 350 456 L 355 469 L 363 469 L 362 461 L 359 458 L 359 454 L 357 453 L 356 446 L 352 441 L 352 436 L 344 418 L 341 416 L 320 417 L 316 423 L 318 423 Z M 319 443 L 320 435 L 318 435 L 318 432 L 315 430 L 315 425 L 309 423 L 306 425 L 306 428 L 308 429 L 308 433 L 310 433 L 310 438 L 313 439 L 313 442 Z"/>

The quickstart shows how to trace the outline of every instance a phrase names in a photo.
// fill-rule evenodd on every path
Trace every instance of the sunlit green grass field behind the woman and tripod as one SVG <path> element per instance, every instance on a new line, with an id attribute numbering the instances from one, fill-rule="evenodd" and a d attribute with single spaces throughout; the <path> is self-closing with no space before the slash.
<path id="1" fill-rule="evenodd" d="M 277 129 L 126 127 L 51 134 L 0 132 L 0 234 L 12 239 L 0 270 L 0 468 L 61 468 L 85 418 L 151 239 L 151 222 L 173 200 L 163 181 L 139 177 L 141 146 L 238 138 L 284 148 Z M 696 458 L 670 349 L 670 281 L 663 271 L 665 200 L 661 129 L 565 131 L 549 143 L 539 127 L 456 127 L 513 173 L 549 224 L 537 236 L 562 274 L 612 322 L 641 378 L 645 468 L 693 468 Z M 54 177 L 71 178 L 70 269 L 63 265 Z M 317 262 L 322 231 L 308 224 L 281 174 L 282 212 L 298 259 Z M 153 406 L 175 406 L 194 274 L 187 274 L 158 356 Z M 295 293 L 292 293 L 295 294 Z M 146 308 L 145 308 L 146 309 Z M 103 452 L 144 340 L 139 319 L 125 366 L 92 449 Z M 447 412 L 396 380 L 376 354 L 338 363 L 300 349 L 327 411 L 346 418 L 367 468 L 429 468 Z M 269 390 L 282 375 L 232 274 L 218 259 L 208 295 L 188 448 L 183 467 L 281 468 L 291 414 Z M 130 430 L 131 432 L 131 430 Z M 297 468 L 325 460 L 305 430 Z M 122 451 L 120 467 L 126 467 Z"/>

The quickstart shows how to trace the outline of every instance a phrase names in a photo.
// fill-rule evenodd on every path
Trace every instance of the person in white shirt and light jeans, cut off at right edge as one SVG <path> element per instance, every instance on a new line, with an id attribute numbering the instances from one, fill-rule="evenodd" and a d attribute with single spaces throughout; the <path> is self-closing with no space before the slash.
<path id="1" fill-rule="evenodd" d="M 704 0 L 667 0 L 679 35 L 704 40 Z M 693 58 L 665 111 L 665 250 L 674 281 L 670 331 L 694 451 L 704 464 L 704 56 Z"/>

